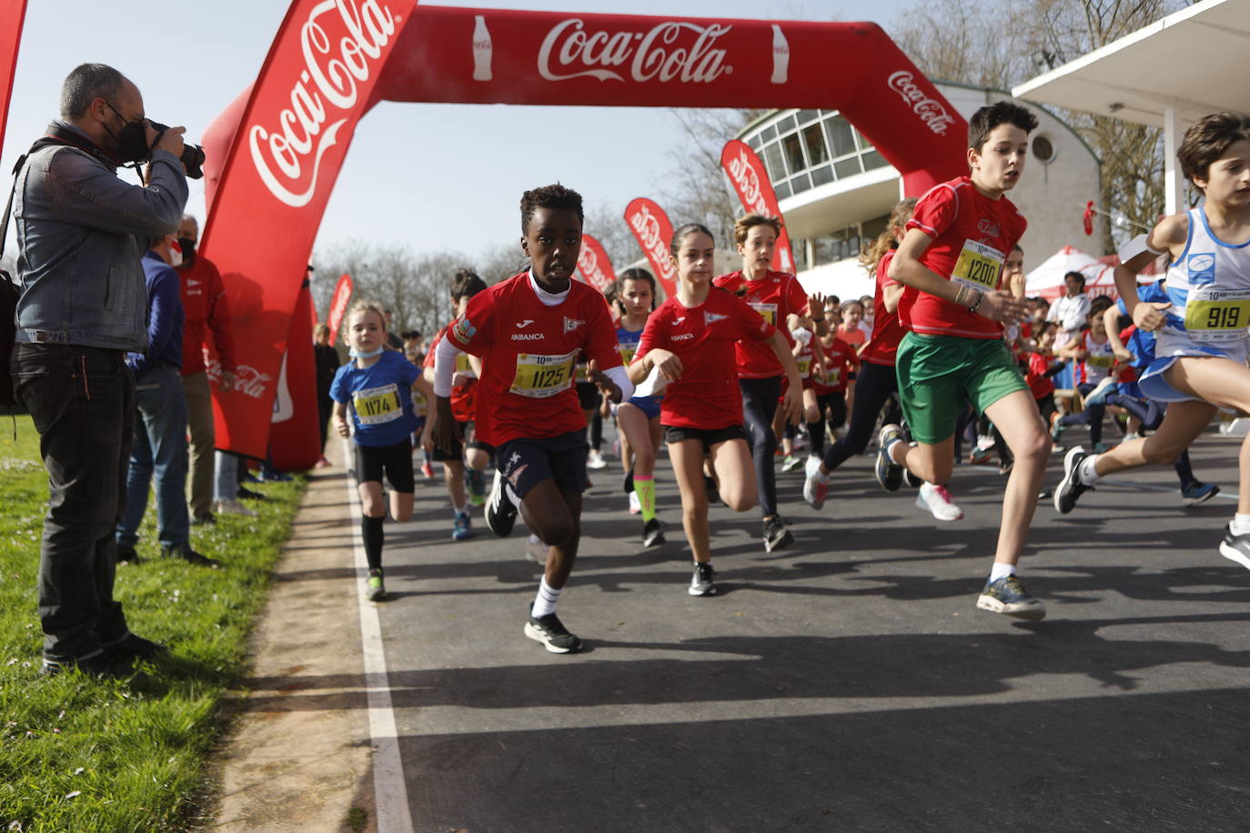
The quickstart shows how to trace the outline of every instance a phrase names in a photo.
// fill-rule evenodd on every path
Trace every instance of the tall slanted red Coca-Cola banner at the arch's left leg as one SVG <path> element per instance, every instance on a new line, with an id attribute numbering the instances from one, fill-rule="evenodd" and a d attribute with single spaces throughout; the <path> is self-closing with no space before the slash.
<path id="1" fill-rule="evenodd" d="M 229 152 L 206 164 L 218 181 L 201 251 L 221 271 L 235 342 L 246 348 L 239 367 L 245 383 L 214 390 L 219 448 L 265 456 L 308 254 L 356 122 L 414 7 L 414 0 L 292 0 L 241 117 L 220 126 L 218 147 Z M 301 312 L 296 323 L 309 315 Z M 314 372 L 291 362 L 288 381 L 300 387 L 299 377 Z M 311 408 L 315 415 L 315 401 Z M 299 437 L 295 451 L 279 455 L 276 443 L 295 433 L 275 435 L 275 457 L 305 456 Z"/>

